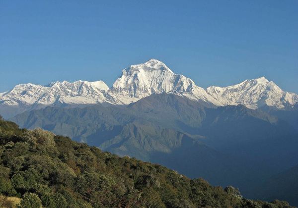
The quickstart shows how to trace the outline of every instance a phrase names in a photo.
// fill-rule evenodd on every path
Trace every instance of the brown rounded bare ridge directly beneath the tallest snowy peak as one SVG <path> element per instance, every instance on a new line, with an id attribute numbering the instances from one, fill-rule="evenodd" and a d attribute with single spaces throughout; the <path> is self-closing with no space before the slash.
<path id="1" fill-rule="evenodd" d="M 193 101 L 173 94 L 155 94 L 130 104 L 114 117 L 117 119 L 133 116 L 134 123 L 157 124 L 165 128 L 190 133 L 199 128 L 206 117 L 205 102 Z M 207 104 L 208 105 L 208 104 Z"/>

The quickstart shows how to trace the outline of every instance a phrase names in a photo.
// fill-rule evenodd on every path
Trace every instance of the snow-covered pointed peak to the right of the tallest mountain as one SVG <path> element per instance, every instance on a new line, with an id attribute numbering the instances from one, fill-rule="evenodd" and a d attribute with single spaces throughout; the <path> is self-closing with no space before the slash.
<path id="1" fill-rule="evenodd" d="M 251 109 L 267 106 L 275 109 L 291 109 L 298 103 L 296 94 L 283 91 L 265 77 L 245 80 L 229 87 L 211 86 L 206 92 L 222 105 L 242 104 Z"/>

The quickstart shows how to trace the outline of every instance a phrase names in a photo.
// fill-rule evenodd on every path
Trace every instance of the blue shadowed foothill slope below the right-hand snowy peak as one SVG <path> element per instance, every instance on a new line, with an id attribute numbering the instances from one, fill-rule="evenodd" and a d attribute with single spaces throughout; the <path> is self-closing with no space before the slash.
<path id="1" fill-rule="evenodd" d="M 289 168 L 297 159 L 298 134 L 287 122 L 242 105 L 206 109 L 200 134 L 215 149 Z"/>

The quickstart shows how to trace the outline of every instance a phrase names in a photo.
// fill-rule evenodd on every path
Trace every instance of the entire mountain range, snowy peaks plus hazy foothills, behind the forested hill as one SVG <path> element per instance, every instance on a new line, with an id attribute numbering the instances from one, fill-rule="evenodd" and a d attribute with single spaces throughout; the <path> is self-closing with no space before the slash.
<path id="1" fill-rule="evenodd" d="M 112 88 L 102 81 L 17 85 L 0 94 L 0 114 L 254 199 L 272 199 L 258 185 L 298 164 L 298 96 L 264 77 L 203 89 L 150 59 L 124 69 Z"/>

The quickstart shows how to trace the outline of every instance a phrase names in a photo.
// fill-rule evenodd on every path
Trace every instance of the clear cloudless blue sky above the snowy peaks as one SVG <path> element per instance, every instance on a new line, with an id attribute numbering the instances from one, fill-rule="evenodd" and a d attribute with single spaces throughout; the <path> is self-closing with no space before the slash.
<path id="1" fill-rule="evenodd" d="M 103 80 L 150 58 L 203 88 L 265 76 L 298 93 L 298 0 L 1 0 L 0 92 Z"/>

